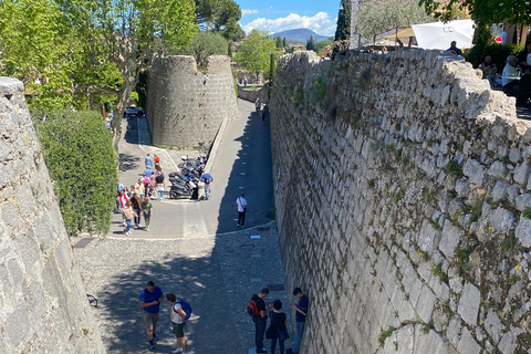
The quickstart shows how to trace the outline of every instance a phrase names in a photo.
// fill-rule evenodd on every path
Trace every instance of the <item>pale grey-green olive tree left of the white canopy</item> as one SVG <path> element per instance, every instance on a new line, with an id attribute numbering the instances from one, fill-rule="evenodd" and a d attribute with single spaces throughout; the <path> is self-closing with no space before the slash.
<path id="1" fill-rule="evenodd" d="M 433 22 L 416 0 L 367 2 L 357 13 L 358 29 L 365 40 L 397 27 Z"/>

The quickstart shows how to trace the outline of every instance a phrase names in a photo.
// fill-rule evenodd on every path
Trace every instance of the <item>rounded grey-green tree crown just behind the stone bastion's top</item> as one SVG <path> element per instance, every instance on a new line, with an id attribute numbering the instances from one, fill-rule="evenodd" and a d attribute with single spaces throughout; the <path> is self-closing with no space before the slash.
<path id="1" fill-rule="evenodd" d="M 227 55 L 227 40 L 221 34 L 199 31 L 187 52 L 196 58 L 200 69 L 206 69 L 210 55 Z"/>

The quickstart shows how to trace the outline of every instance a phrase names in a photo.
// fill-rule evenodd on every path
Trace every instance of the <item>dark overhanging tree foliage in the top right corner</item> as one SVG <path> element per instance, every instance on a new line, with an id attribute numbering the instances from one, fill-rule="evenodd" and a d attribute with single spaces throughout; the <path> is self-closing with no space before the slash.
<path id="1" fill-rule="evenodd" d="M 467 10 L 477 23 L 492 24 L 508 21 L 531 25 L 531 6 L 524 0 L 420 0 L 427 13 L 442 21 L 454 20 L 455 8 Z"/>

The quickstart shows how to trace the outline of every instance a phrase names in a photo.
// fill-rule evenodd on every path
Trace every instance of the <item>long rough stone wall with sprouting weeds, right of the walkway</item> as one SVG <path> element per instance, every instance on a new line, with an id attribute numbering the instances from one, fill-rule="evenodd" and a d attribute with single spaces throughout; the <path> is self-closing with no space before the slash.
<path id="1" fill-rule="evenodd" d="M 438 51 L 305 52 L 280 59 L 270 107 L 285 284 L 311 299 L 301 353 L 529 353 L 513 98 Z"/>

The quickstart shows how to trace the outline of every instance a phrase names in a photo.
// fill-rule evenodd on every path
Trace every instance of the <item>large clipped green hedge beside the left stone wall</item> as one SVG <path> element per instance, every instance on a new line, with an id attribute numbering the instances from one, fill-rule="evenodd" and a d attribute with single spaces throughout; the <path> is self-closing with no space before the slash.
<path id="1" fill-rule="evenodd" d="M 111 135 L 101 115 L 56 111 L 33 117 L 69 236 L 105 233 L 117 177 Z"/>

